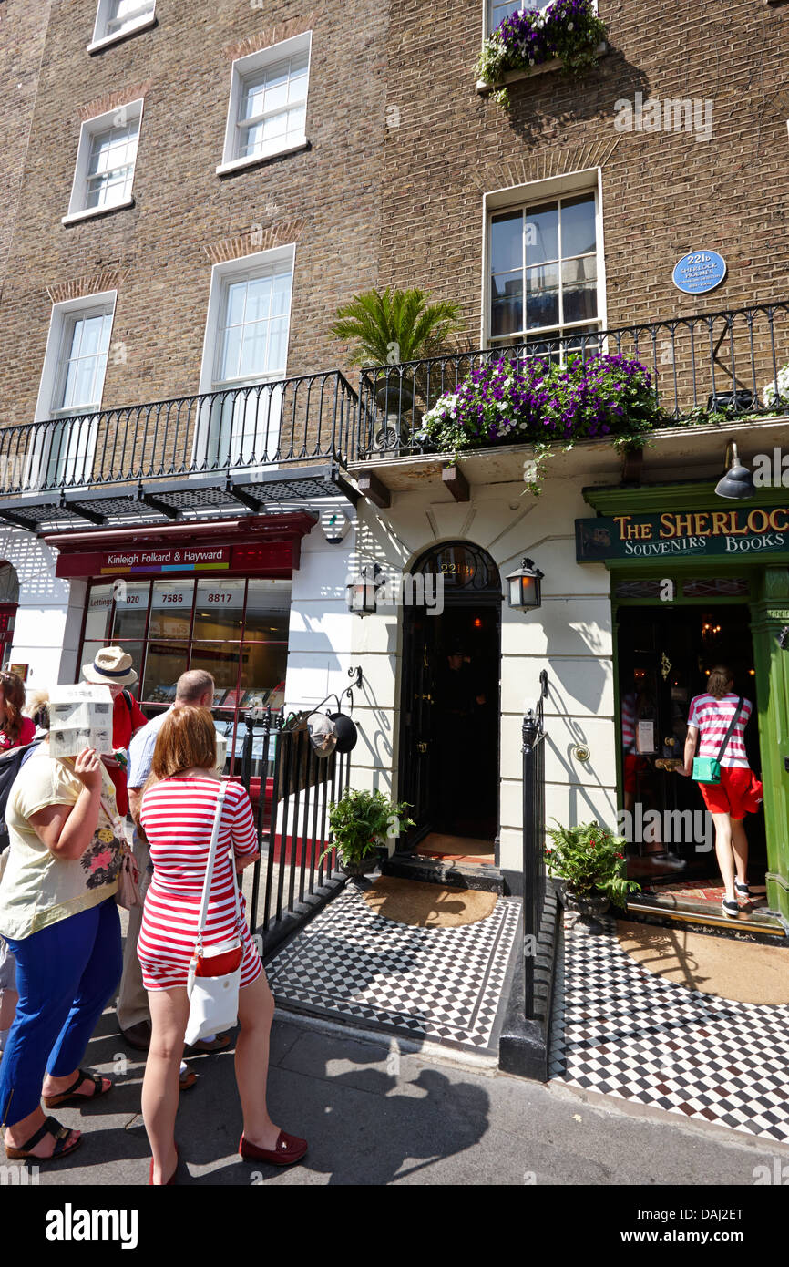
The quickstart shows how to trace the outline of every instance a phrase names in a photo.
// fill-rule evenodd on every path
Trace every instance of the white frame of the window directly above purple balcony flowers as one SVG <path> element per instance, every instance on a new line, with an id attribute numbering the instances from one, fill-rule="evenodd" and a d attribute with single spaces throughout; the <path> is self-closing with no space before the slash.
<path id="1" fill-rule="evenodd" d="M 608 314 L 605 302 L 605 239 L 603 233 L 603 172 L 600 167 L 588 167 L 583 171 L 567 172 L 564 176 L 552 176 L 548 180 L 536 180 L 528 185 L 517 185 L 512 189 L 490 190 L 483 196 L 483 296 L 481 296 L 481 343 L 480 347 L 491 348 L 491 290 L 490 290 L 490 224 L 496 212 L 515 210 L 527 204 L 550 203 L 555 198 L 571 198 L 575 194 L 595 195 L 595 232 L 596 232 L 596 258 L 598 258 L 598 315 L 591 321 L 576 322 L 579 328 L 596 323 L 602 331 L 608 328 Z M 526 296 L 524 296 L 526 303 Z M 546 331 L 546 340 L 566 337 L 572 332 L 572 324 L 564 326 L 565 334 L 557 329 Z M 540 329 L 528 331 L 524 338 L 538 338 Z M 496 345 L 496 350 L 504 351 L 503 345 Z"/>

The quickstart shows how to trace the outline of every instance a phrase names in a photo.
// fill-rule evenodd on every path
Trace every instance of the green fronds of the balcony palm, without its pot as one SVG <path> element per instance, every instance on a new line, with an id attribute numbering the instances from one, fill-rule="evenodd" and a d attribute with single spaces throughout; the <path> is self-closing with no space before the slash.
<path id="1" fill-rule="evenodd" d="M 365 290 L 337 309 L 334 338 L 351 343 L 351 365 L 399 365 L 436 355 L 460 326 L 457 304 L 431 303 L 418 288 Z"/>

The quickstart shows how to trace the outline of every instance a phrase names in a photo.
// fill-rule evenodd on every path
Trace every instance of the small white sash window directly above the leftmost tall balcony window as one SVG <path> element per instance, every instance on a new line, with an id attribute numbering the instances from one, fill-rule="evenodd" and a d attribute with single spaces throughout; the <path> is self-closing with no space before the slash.
<path id="1" fill-rule="evenodd" d="M 63 224 L 132 207 L 142 100 L 89 119 L 80 131 L 77 165 Z"/>

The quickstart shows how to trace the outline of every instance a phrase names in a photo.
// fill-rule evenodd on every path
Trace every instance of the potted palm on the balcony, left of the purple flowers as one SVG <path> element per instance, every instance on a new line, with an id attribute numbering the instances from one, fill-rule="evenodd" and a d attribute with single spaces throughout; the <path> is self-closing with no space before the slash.
<path id="1" fill-rule="evenodd" d="M 365 290 L 338 308 L 332 334 L 351 343 L 351 365 L 376 369 L 376 404 L 388 417 L 396 414 L 401 419 L 413 411 L 419 390 L 419 374 L 404 370 L 404 362 L 438 355 L 458 329 L 458 314 L 457 304 L 431 303 L 431 295 L 418 288 L 388 286 Z M 375 437 L 377 447 L 398 440 L 398 428 L 389 423 Z"/>

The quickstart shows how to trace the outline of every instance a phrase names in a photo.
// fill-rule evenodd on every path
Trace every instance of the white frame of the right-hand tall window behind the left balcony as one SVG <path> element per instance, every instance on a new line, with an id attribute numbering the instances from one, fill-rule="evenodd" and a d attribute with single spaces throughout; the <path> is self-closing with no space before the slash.
<path id="1" fill-rule="evenodd" d="M 222 264 L 215 264 L 213 266 L 209 299 L 208 299 L 208 314 L 205 321 L 205 337 L 203 341 L 200 383 L 198 389 L 200 395 L 205 395 L 206 393 L 213 393 L 213 392 L 233 390 L 234 388 L 252 386 L 260 383 L 281 383 L 284 379 L 287 378 L 287 350 L 290 345 L 290 318 L 293 312 L 295 262 L 296 262 L 296 247 L 295 242 L 291 242 L 286 246 L 272 247 L 268 251 L 256 251 L 253 255 L 244 255 L 241 256 L 241 258 L 238 260 L 227 260 L 223 261 Z M 281 264 L 287 264 L 290 266 L 290 302 L 287 304 L 287 313 L 286 313 L 287 338 L 285 342 L 285 365 L 282 367 L 282 371 L 277 374 L 263 374 L 248 379 L 219 381 L 215 378 L 217 359 L 219 355 L 219 324 L 222 319 L 223 305 L 225 303 L 228 284 L 233 280 L 241 280 L 242 277 L 248 276 L 251 272 L 257 272 L 261 269 L 268 269 L 272 266 L 276 267 L 277 265 Z M 268 393 L 267 399 L 270 402 L 274 402 L 275 395 L 276 393 L 274 392 Z M 261 399 L 263 398 L 261 397 Z M 270 416 L 272 412 L 270 404 L 267 405 L 267 409 L 268 409 L 268 418 L 266 424 L 270 426 Z M 217 411 L 213 408 L 213 403 L 205 402 L 205 409 L 201 404 L 200 412 L 201 414 L 204 413 L 205 416 L 198 417 L 195 424 L 193 461 L 196 465 L 201 465 L 206 460 L 214 460 L 214 456 L 211 454 L 211 446 L 214 445 L 214 442 L 219 443 L 222 441 L 222 437 L 219 437 L 219 441 L 217 441 L 215 436 Z M 222 423 L 223 419 L 220 419 L 219 424 L 222 426 Z M 277 435 L 275 437 L 272 435 L 272 431 L 268 432 L 267 445 L 266 445 L 267 452 L 272 450 L 276 451 L 276 445 L 279 443 L 279 424 L 280 421 L 277 417 L 276 421 Z M 243 445 L 243 437 L 242 437 L 242 445 Z M 234 465 L 238 464 L 234 462 Z M 275 464 L 268 462 L 266 465 L 275 465 Z"/>

